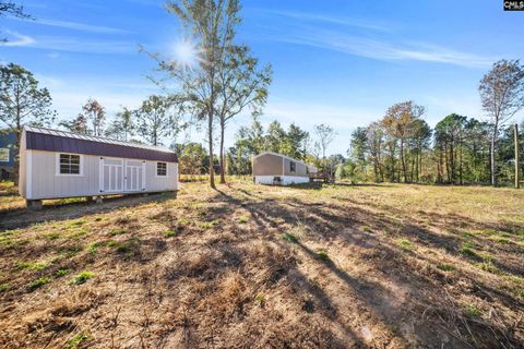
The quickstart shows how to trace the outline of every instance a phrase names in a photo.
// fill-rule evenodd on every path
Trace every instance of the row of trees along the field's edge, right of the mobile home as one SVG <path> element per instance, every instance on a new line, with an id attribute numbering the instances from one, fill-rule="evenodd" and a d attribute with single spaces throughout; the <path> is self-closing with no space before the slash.
<path id="1" fill-rule="evenodd" d="M 348 159 L 337 164 L 338 176 L 376 182 L 514 181 L 510 121 L 524 108 L 524 67 L 519 60 L 498 61 L 478 89 L 486 121 L 451 113 L 431 129 L 424 120 L 425 108 L 414 101 L 390 107 L 381 120 L 352 134 Z M 517 166 L 522 173 L 522 164 Z"/>

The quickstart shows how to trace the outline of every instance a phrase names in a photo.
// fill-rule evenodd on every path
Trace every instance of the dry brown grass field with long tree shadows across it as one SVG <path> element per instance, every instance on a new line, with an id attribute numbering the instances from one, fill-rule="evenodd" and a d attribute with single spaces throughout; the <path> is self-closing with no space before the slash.
<path id="1" fill-rule="evenodd" d="M 0 348 L 522 348 L 524 191 L 184 183 L 26 212 Z"/>

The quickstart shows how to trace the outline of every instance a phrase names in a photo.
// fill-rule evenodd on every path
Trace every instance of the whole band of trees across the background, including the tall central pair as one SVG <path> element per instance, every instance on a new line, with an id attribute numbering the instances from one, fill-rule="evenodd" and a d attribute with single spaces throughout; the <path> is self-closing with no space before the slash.
<path id="1" fill-rule="evenodd" d="M 481 79 L 478 89 L 486 121 L 452 113 L 432 129 L 425 121 L 426 109 L 408 100 L 390 107 L 379 121 L 355 130 L 346 156 L 327 156 L 336 135 L 332 127 L 315 125 L 310 135 L 296 123 L 284 129 L 275 120 L 264 129 L 260 122 L 272 68 L 262 65 L 236 38 L 241 23 L 239 0 L 168 1 L 166 9 L 187 32 L 195 63 L 142 48 L 157 63 L 148 77 L 159 94 L 135 109 L 122 106 L 112 117 L 91 98 L 76 117 L 61 120 L 61 128 L 152 145 L 166 145 L 163 143 L 169 140 L 167 145 L 179 155 L 180 171 L 206 171 L 212 186 L 215 172 L 222 183 L 226 173 L 251 173 L 251 157 L 263 151 L 301 159 L 330 176 L 353 181 L 497 184 L 512 176 L 508 127 L 524 107 L 524 68 L 519 60 L 496 62 Z M 5 10 L 0 8 L 5 14 L 25 16 L 22 10 L 12 2 Z M 2 64 L 0 77 L 0 121 L 19 140 L 24 124 L 55 122 L 49 91 L 40 88 L 28 70 Z M 240 128 L 233 146 L 226 148 L 228 123 L 247 113 L 252 115 L 252 123 Z M 206 147 L 177 141 L 193 125 L 205 131 Z"/>

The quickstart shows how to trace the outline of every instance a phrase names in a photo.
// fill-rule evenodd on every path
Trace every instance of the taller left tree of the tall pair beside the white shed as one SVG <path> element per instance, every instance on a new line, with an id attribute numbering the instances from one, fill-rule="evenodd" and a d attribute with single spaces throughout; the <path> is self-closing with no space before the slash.
<path id="1" fill-rule="evenodd" d="M 194 47 L 199 48 L 196 64 L 192 67 L 171 58 L 163 59 L 159 53 L 150 56 L 158 62 L 160 71 L 179 83 L 181 95 L 194 116 L 206 121 L 210 184 L 215 188 L 213 131 L 221 92 L 218 79 L 226 62 L 226 49 L 233 45 L 235 28 L 240 23 L 240 3 L 238 0 L 180 0 L 168 1 L 166 8 L 191 33 Z"/>

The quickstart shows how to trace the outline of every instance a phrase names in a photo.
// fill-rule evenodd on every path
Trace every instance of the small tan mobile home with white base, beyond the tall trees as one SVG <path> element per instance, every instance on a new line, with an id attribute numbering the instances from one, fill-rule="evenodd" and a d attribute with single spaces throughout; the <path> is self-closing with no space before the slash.
<path id="1" fill-rule="evenodd" d="M 309 182 L 317 169 L 288 156 L 265 152 L 253 157 L 253 177 L 258 184 L 290 185 Z"/>

